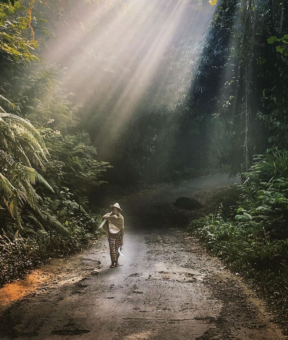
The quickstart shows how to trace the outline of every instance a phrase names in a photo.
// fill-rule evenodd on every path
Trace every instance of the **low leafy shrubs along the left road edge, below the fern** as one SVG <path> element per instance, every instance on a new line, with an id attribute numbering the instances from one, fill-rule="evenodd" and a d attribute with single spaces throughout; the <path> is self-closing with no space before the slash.
<path id="1" fill-rule="evenodd" d="M 65 225 L 68 235 L 61 235 L 54 229 L 37 229 L 33 232 L 29 225 L 25 230 L 13 233 L 15 225 L 6 225 L 0 231 L 0 287 L 13 280 L 24 278 L 35 267 L 52 257 L 62 257 L 80 252 L 89 242 L 98 238 L 101 232 L 102 211 L 95 215 L 86 212 L 71 202 L 68 206 L 58 205 L 54 211 L 56 218 Z M 22 232 L 22 233 L 21 233 Z"/>

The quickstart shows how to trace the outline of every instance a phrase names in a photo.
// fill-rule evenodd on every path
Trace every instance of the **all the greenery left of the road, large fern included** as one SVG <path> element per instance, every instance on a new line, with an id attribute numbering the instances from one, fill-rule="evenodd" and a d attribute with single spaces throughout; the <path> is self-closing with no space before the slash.
<path id="1" fill-rule="evenodd" d="M 95 237 L 91 198 L 109 168 L 79 128 L 64 70 L 42 57 L 52 34 L 40 10 L 57 20 L 61 4 L 46 6 L 0 3 L 0 285 Z"/>

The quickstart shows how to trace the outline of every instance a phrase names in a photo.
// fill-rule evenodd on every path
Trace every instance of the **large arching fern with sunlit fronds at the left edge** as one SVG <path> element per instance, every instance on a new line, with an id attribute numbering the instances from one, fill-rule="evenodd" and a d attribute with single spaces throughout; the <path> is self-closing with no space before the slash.
<path id="1" fill-rule="evenodd" d="M 41 197 L 34 189 L 34 185 L 39 183 L 53 192 L 34 169 L 35 166 L 44 170 L 48 155 L 43 138 L 31 123 L 16 115 L 0 113 L 0 206 L 6 208 L 20 229 L 23 229 L 21 208 L 28 206 L 36 215 L 32 218 L 35 225 L 42 225 L 38 217 L 67 235 L 67 229 L 41 208 Z"/>

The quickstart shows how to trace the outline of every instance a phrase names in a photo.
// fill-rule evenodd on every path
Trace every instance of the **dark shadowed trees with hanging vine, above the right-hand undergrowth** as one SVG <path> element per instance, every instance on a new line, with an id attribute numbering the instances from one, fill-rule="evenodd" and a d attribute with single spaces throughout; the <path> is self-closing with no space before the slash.
<path id="1" fill-rule="evenodd" d="M 232 174 L 236 174 L 247 171 L 253 154 L 264 152 L 269 143 L 284 146 L 288 8 L 285 2 L 257 0 L 218 1 L 217 6 L 192 88 L 191 106 L 196 105 L 197 115 L 208 113 L 214 121 L 223 122 L 226 147 L 218 156 L 231 164 Z M 279 45 L 274 46 L 277 37 Z M 221 150 L 223 142 L 219 141 Z"/>

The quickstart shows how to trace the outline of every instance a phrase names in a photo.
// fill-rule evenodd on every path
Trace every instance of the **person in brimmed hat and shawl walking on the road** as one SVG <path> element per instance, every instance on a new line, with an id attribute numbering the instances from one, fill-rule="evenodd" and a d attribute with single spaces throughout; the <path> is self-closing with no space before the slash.
<path id="1" fill-rule="evenodd" d="M 110 205 L 110 207 L 112 208 L 112 211 L 107 212 L 107 214 L 102 217 L 102 221 L 106 219 L 103 229 L 105 230 L 109 242 L 111 257 L 110 268 L 114 268 L 119 266 L 118 248 L 123 245 L 124 217 L 120 214 L 122 209 L 120 208 L 119 203 Z"/>

